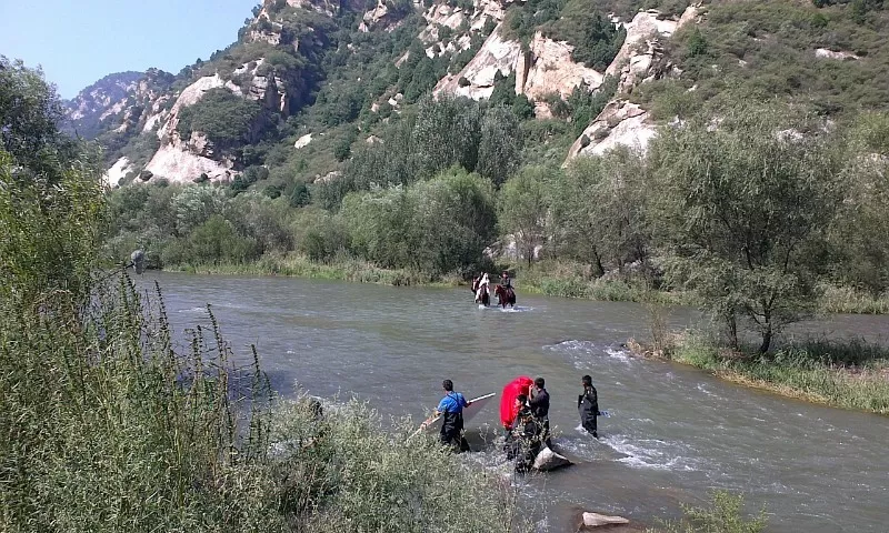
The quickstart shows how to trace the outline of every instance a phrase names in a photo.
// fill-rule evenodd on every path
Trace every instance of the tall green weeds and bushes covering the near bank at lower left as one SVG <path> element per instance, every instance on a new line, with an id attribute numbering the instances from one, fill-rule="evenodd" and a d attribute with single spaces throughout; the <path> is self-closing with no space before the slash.
<path id="1" fill-rule="evenodd" d="M 152 301 L 121 276 L 86 308 L 2 306 L 0 530 L 522 527 L 513 490 L 433 439 L 406 445 L 358 402 L 276 401 L 212 314 L 180 351 Z"/>

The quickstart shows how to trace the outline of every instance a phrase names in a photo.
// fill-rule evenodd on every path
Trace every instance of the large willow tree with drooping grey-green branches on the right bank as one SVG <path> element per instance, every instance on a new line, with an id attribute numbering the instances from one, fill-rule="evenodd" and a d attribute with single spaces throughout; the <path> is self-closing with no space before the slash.
<path id="1" fill-rule="evenodd" d="M 840 141 L 795 109 L 738 104 L 653 142 L 666 273 L 701 296 L 733 346 L 736 316 L 749 319 L 765 353 L 813 305 L 817 251 L 842 200 Z"/>

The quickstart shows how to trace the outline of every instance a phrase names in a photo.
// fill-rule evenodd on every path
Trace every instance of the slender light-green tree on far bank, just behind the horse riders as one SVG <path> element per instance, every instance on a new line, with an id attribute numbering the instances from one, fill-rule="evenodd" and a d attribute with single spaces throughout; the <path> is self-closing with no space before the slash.
<path id="1" fill-rule="evenodd" d="M 528 260 L 547 235 L 549 172 L 542 167 L 528 167 L 510 178 L 500 191 L 500 234 L 511 234 L 518 252 Z"/>

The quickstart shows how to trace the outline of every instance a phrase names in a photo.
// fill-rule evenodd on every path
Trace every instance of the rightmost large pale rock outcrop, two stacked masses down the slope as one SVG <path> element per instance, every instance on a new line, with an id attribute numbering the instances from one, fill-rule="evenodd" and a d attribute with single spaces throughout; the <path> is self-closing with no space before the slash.
<path id="1" fill-rule="evenodd" d="M 618 77 L 618 94 L 629 94 L 650 80 L 678 73 L 663 53 L 660 40 L 671 36 L 683 24 L 699 17 L 698 8 L 690 6 L 679 19 L 659 19 L 657 11 L 638 13 L 625 24 L 627 39 L 606 74 Z M 599 155 L 618 145 L 645 151 L 656 135 L 655 123 L 648 112 L 626 99 L 616 99 L 606 105 L 583 130 L 568 152 L 577 155 Z"/>

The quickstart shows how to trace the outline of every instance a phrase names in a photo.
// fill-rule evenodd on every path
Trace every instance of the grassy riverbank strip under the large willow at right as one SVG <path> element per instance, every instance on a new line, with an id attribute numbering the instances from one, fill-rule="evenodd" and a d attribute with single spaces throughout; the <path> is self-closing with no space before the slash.
<path id="1" fill-rule="evenodd" d="M 651 356 L 650 349 L 630 349 Z M 889 415 L 889 349 L 862 341 L 808 341 L 765 356 L 677 335 L 659 359 L 689 364 L 747 386 L 835 408 Z"/>

